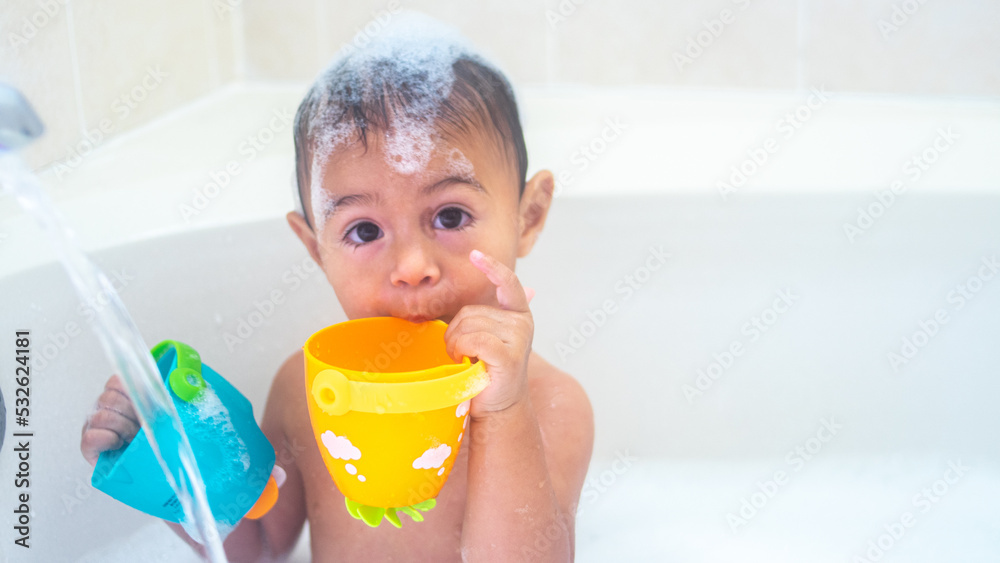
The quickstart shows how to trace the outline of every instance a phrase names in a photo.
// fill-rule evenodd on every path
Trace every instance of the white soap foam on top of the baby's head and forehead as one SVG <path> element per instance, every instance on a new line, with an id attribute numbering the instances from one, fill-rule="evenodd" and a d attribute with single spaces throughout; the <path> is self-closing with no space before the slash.
<path id="1" fill-rule="evenodd" d="M 318 108 L 309 123 L 312 143 L 310 202 L 316 229 L 322 231 L 334 201 L 322 189 L 330 155 L 357 140 L 357 125 L 342 116 L 352 105 L 379 100 L 389 92 L 405 96 L 405 104 L 386 100 L 388 130 L 380 138 L 386 162 L 400 174 L 424 170 L 441 148 L 436 127 L 441 105 L 455 81 L 460 58 L 489 64 L 455 29 L 423 14 L 402 11 L 372 36 L 359 31 L 319 75 L 305 103 Z M 448 166 L 471 175 L 471 163 L 452 150 Z"/>

